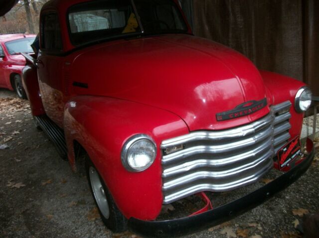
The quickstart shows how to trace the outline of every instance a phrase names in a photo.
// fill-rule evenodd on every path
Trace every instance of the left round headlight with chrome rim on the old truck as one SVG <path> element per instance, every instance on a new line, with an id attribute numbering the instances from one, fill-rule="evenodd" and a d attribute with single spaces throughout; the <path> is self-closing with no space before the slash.
<path id="1" fill-rule="evenodd" d="M 145 134 L 132 136 L 123 146 L 121 159 L 129 171 L 143 171 L 149 168 L 156 158 L 156 145 Z"/>

